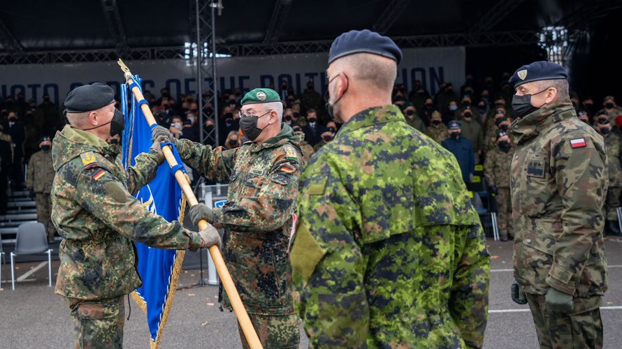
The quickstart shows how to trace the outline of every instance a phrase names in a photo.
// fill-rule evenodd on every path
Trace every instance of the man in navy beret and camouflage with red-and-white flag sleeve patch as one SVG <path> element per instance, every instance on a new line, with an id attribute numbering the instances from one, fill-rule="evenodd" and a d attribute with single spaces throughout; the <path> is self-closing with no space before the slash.
<path id="1" fill-rule="evenodd" d="M 601 348 L 607 154 L 602 136 L 577 118 L 566 78 L 562 66 L 540 61 L 510 79 L 512 299 L 529 303 L 542 348 Z"/>

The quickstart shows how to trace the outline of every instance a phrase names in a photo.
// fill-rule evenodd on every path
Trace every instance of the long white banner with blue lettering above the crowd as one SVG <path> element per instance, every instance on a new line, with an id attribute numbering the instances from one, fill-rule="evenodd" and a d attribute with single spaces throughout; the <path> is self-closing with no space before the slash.
<path id="1" fill-rule="evenodd" d="M 456 88 L 464 83 L 464 47 L 405 49 L 403 53 L 397 83 L 405 84 L 407 91 L 412 89 L 415 80 L 421 80 L 431 94 L 436 93 L 439 82 L 452 82 Z M 327 60 L 327 53 L 218 58 L 218 89 L 240 87 L 249 91 L 268 87 L 268 84 L 279 87 L 282 80 L 287 80 L 296 94 L 301 94 L 306 83 L 313 80 L 315 89 L 324 94 Z M 196 94 L 196 66 L 192 60 L 126 62 L 132 70 L 147 77 L 143 80 L 143 90 L 150 90 L 156 96 L 164 87 L 171 96 Z M 35 98 L 39 102 L 43 94 L 49 94 L 52 102 L 58 105 L 71 89 L 95 81 L 109 84 L 119 96 L 118 75 L 119 66 L 115 61 L 0 66 L 0 96 L 15 96 L 21 91 L 27 100 Z M 211 83 L 211 80 L 205 80 Z"/>

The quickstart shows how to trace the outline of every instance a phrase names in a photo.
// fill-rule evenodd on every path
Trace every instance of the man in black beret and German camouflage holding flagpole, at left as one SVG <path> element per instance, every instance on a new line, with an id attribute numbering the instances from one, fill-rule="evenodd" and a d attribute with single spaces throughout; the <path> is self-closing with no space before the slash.
<path id="1" fill-rule="evenodd" d="M 117 147 L 106 139 L 121 133 L 124 118 L 113 98 L 99 82 L 69 92 L 69 124 L 52 146 L 52 221 L 64 238 L 56 293 L 71 309 L 75 348 L 123 346 L 123 296 L 142 284 L 132 241 L 193 249 L 220 243 L 215 228 L 191 232 L 132 196 L 153 179 L 164 154 L 156 140 L 136 165 L 124 170 L 115 163 Z"/>

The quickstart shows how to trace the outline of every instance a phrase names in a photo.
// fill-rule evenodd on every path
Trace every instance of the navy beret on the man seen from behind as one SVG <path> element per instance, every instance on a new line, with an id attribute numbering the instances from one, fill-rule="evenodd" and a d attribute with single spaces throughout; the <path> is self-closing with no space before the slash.
<path id="1" fill-rule="evenodd" d="M 363 29 L 351 30 L 338 36 L 328 53 L 328 64 L 330 65 L 335 59 L 355 53 L 379 54 L 393 59 L 397 64 L 402 61 L 402 50 L 391 38 Z"/>

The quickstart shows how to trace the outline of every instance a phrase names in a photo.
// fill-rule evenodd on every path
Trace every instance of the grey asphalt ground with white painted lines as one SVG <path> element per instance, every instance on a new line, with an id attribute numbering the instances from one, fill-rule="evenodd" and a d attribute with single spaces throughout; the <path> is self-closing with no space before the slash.
<path id="1" fill-rule="evenodd" d="M 512 283 L 512 244 L 489 242 L 493 255 L 491 296 L 485 348 L 537 348 L 535 329 L 527 306 L 509 299 Z M 622 343 L 622 240 L 607 241 L 609 291 L 602 309 L 605 348 L 621 348 Z M 193 258 L 196 258 L 194 256 Z M 7 257 L 8 262 L 8 257 Z M 73 323 L 64 300 L 48 288 L 46 262 L 18 263 L 16 277 L 35 272 L 10 290 L 10 265 L 2 266 L 0 291 L 0 348 L 70 348 Z M 194 262 L 193 262 L 194 263 Z M 57 261 L 52 261 L 55 279 Z M 236 318 L 220 312 L 217 287 L 191 287 L 198 270 L 187 270 L 180 278 L 185 288 L 175 296 L 175 304 L 161 340 L 161 348 L 240 348 Z M 8 282 L 7 282 L 8 281 Z M 607 308 L 609 307 L 609 308 Z M 619 308 L 616 308 L 619 307 Z M 126 305 L 126 314 L 128 307 Z M 124 347 L 149 348 L 146 317 L 136 304 L 125 323 Z M 302 334 L 302 346 L 307 340 Z"/>

